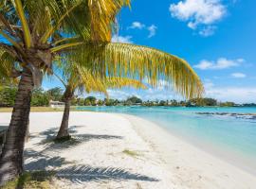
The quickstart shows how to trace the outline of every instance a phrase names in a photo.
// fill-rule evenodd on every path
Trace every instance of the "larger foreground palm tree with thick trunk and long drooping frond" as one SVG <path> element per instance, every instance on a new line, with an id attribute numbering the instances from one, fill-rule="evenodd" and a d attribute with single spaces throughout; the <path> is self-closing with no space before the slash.
<path id="1" fill-rule="evenodd" d="M 0 1 L 0 48 L 12 60 L 12 77 L 19 77 L 0 157 L 0 186 L 23 172 L 31 91 L 41 85 L 44 73 L 52 73 L 58 57 L 86 64 L 101 77 L 106 72 L 109 77 L 146 77 L 153 86 L 165 79 L 187 98 L 202 94 L 202 83 L 185 60 L 144 46 L 110 43 L 123 6 L 130 0 Z"/>

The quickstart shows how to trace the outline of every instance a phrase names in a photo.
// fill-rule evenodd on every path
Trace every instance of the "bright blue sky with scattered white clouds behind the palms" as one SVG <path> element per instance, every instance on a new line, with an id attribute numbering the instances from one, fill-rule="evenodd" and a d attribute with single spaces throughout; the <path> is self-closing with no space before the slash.
<path id="1" fill-rule="evenodd" d="M 207 96 L 256 102 L 255 7 L 255 0 L 133 0 L 132 9 L 119 15 L 113 41 L 152 46 L 188 60 Z M 46 81 L 44 87 L 57 84 Z M 113 98 L 179 98 L 164 86 L 108 92 Z"/>

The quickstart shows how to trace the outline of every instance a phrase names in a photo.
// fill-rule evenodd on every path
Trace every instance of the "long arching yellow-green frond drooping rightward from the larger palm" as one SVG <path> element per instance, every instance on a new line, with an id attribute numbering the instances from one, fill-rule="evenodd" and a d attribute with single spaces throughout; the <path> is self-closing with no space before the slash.
<path id="1" fill-rule="evenodd" d="M 69 60 L 83 62 L 96 73 L 109 77 L 146 79 L 153 87 L 166 80 L 168 87 L 186 98 L 204 92 L 200 78 L 186 60 L 155 48 L 128 43 L 106 43 L 101 46 L 82 45 L 68 54 Z"/>

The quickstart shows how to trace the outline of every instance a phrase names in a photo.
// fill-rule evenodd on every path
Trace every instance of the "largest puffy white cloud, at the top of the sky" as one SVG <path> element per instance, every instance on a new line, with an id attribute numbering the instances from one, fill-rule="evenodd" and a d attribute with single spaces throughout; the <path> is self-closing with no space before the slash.
<path id="1" fill-rule="evenodd" d="M 199 34 L 207 37 L 214 33 L 212 25 L 226 15 L 227 9 L 221 0 L 184 0 L 171 4 L 170 12 L 174 18 L 187 22 L 192 29 L 203 26 Z"/>

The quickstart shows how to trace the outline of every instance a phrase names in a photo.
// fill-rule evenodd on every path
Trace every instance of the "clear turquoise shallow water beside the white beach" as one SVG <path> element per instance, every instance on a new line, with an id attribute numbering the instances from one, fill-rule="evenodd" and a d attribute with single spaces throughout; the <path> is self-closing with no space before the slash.
<path id="1" fill-rule="evenodd" d="M 243 158 L 256 165 L 256 119 L 196 112 L 256 113 L 256 108 L 183 107 L 79 107 L 94 112 L 121 112 L 137 115 L 169 129 L 199 146 L 213 146 L 231 159 Z M 223 154 L 222 154 L 223 155 Z"/>

